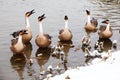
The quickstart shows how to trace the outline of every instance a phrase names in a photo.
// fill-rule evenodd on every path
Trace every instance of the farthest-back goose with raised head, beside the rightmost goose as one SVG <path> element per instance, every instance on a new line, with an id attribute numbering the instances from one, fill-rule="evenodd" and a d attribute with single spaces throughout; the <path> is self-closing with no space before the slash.
<path id="1" fill-rule="evenodd" d="M 98 22 L 97 22 L 97 19 L 95 18 L 91 18 L 91 14 L 90 14 L 90 11 L 86 10 L 86 13 L 87 13 L 87 23 L 85 24 L 85 31 L 87 32 L 87 34 L 89 35 L 90 32 L 96 32 L 97 31 L 97 25 L 98 25 Z"/>

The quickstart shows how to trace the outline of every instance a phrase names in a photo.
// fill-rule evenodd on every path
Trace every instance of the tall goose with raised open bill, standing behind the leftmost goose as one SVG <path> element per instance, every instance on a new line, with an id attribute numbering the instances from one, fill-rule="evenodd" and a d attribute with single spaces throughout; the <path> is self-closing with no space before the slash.
<path id="1" fill-rule="evenodd" d="M 22 35 L 22 40 L 23 40 L 23 42 L 24 42 L 24 43 L 28 43 L 28 42 L 32 39 L 32 31 L 31 31 L 30 24 L 29 24 L 29 17 L 30 17 L 33 13 L 35 13 L 35 12 L 34 12 L 34 9 L 31 10 L 31 11 L 29 11 L 29 12 L 26 12 L 26 13 L 25 13 L 26 28 L 14 32 L 14 33 L 12 34 L 12 36 L 13 36 L 14 38 L 19 35 L 19 32 L 24 31 L 24 30 L 25 30 L 25 31 L 27 30 L 27 34 Z"/>

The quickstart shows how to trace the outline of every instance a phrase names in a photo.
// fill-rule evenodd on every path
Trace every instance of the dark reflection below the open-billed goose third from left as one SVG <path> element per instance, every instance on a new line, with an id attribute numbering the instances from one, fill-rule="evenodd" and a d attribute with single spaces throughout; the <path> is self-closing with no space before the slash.
<path id="1" fill-rule="evenodd" d="M 51 54 L 51 48 L 38 48 L 35 56 L 38 62 L 38 65 L 40 66 L 40 74 L 44 74 L 44 65 L 48 62 L 49 57 Z"/>

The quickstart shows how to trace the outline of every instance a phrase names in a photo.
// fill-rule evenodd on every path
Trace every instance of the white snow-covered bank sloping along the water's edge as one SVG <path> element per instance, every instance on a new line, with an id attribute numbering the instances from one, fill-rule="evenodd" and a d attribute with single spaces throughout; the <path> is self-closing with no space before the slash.
<path id="1" fill-rule="evenodd" d="M 120 51 L 106 59 L 96 58 L 87 66 L 67 70 L 64 74 L 44 80 L 120 80 Z"/>

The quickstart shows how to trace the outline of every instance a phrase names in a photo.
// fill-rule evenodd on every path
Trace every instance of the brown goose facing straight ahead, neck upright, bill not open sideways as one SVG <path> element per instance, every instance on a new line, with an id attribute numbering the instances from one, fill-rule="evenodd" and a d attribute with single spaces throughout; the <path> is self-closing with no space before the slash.
<path id="1" fill-rule="evenodd" d="M 69 27 L 68 27 L 68 17 L 65 16 L 64 17 L 64 20 L 65 20 L 65 28 L 64 29 L 61 29 L 59 31 L 59 40 L 60 41 L 71 41 L 73 35 L 72 35 L 72 32 L 69 30 Z"/>

